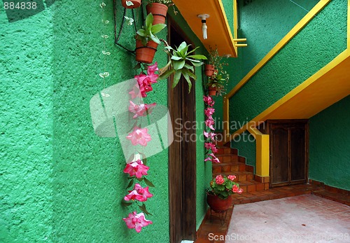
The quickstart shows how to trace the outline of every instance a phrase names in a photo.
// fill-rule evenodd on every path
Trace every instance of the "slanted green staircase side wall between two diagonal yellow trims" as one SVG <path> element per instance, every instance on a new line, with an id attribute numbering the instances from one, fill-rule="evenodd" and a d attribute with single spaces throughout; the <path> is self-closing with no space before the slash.
<path id="1" fill-rule="evenodd" d="M 258 116 L 345 50 L 346 11 L 346 1 L 330 1 L 230 99 L 230 119 L 244 121 Z"/>

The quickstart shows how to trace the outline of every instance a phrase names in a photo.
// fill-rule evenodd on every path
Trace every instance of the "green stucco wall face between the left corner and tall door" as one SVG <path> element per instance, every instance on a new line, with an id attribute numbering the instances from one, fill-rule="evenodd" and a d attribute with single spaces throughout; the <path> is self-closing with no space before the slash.
<path id="1" fill-rule="evenodd" d="M 58 1 L 54 15 L 54 166 L 53 233 L 55 242 L 169 242 L 167 150 L 148 158 L 148 179 L 156 188 L 146 202 L 153 225 L 137 234 L 122 220 L 137 208 L 120 202 L 127 193 L 125 160 L 117 138 L 97 137 L 90 118 L 90 98 L 104 88 L 101 1 Z M 118 21 L 122 18 L 117 1 Z M 134 56 L 113 44 L 113 1 L 106 1 L 106 87 L 133 78 Z M 130 13 L 129 13 L 130 14 Z M 118 26 L 119 26 L 118 22 Z M 121 43 L 134 48 L 134 29 L 125 26 Z M 161 37 L 166 37 L 166 30 Z M 160 67 L 167 56 L 158 51 Z M 167 82 L 153 85 L 146 103 L 167 105 Z M 137 211 L 140 211 L 137 209 Z"/>

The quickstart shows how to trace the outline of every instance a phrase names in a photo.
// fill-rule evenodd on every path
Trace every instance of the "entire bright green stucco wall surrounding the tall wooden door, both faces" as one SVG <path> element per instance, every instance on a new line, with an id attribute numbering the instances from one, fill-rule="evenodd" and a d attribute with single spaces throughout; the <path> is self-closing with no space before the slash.
<path id="1" fill-rule="evenodd" d="M 89 102 L 104 87 L 133 78 L 134 56 L 114 45 L 113 1 L 56 1 L 25 20 L 9 23 L 0 9 L 0 242 L 169 242 L 167 149 L 148 158 L 154 196 L 146 203 L 153 225 L 140 234 L 122 220 L 137 208 L 120 202 L 127 193 L 125 159 L 117 138 L 94 134 Z M 2 6 L 1 6 L 2 7 Z M 117 1 L 119 28 L 123 8 Z M 131 13 L 129 12 L 131 15 Z M 181 15 L 183 31 L 201 46 Z M 104 64 L 102 34 L 108 34 Z M 120 43 L 134 48 L 134 29 Z M 161 38 L 167 38 L 165 29 Z M 2 43 L 5 43 L 4 45 Z M 158 48 L 163 67 L 167 55 Z M 200 52 L 205 52 L 201 46 Z M 99 73 L 109 71 L 106 84 Z M 202 136 L 202 69 L 197 68 L 197 137 Z M 153 85 L 146 103 L 167 106 L 167 81 Z M 204 189 L 211 164 L 197 141 L 197 228 L 207 211 Z"/>

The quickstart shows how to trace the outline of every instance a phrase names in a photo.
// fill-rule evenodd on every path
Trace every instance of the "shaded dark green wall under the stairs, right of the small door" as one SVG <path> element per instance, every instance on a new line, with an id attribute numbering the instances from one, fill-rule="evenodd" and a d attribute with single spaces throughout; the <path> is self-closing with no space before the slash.
<path id="1" fill-rule="evenodd" d="M 350 96 L 309 120 L 309 178 L 350 190 Z"/>

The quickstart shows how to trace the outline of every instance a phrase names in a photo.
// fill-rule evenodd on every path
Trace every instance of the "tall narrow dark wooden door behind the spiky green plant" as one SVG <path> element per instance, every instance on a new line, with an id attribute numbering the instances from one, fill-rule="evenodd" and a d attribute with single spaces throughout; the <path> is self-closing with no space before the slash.
<path id="1" fill-rule="evenodd" d="M 179 46 L 184 35 L 171 20 L 169 44 Z M 188 84 L 181 79 L 176 88 L 168 83 L 168 106 L 172 117 L 174 142 L 169 146 L 169 228 L 170 242 L 195 240 L 196 235 L 196 141 L 195 83 L 188 94 Z"/>

